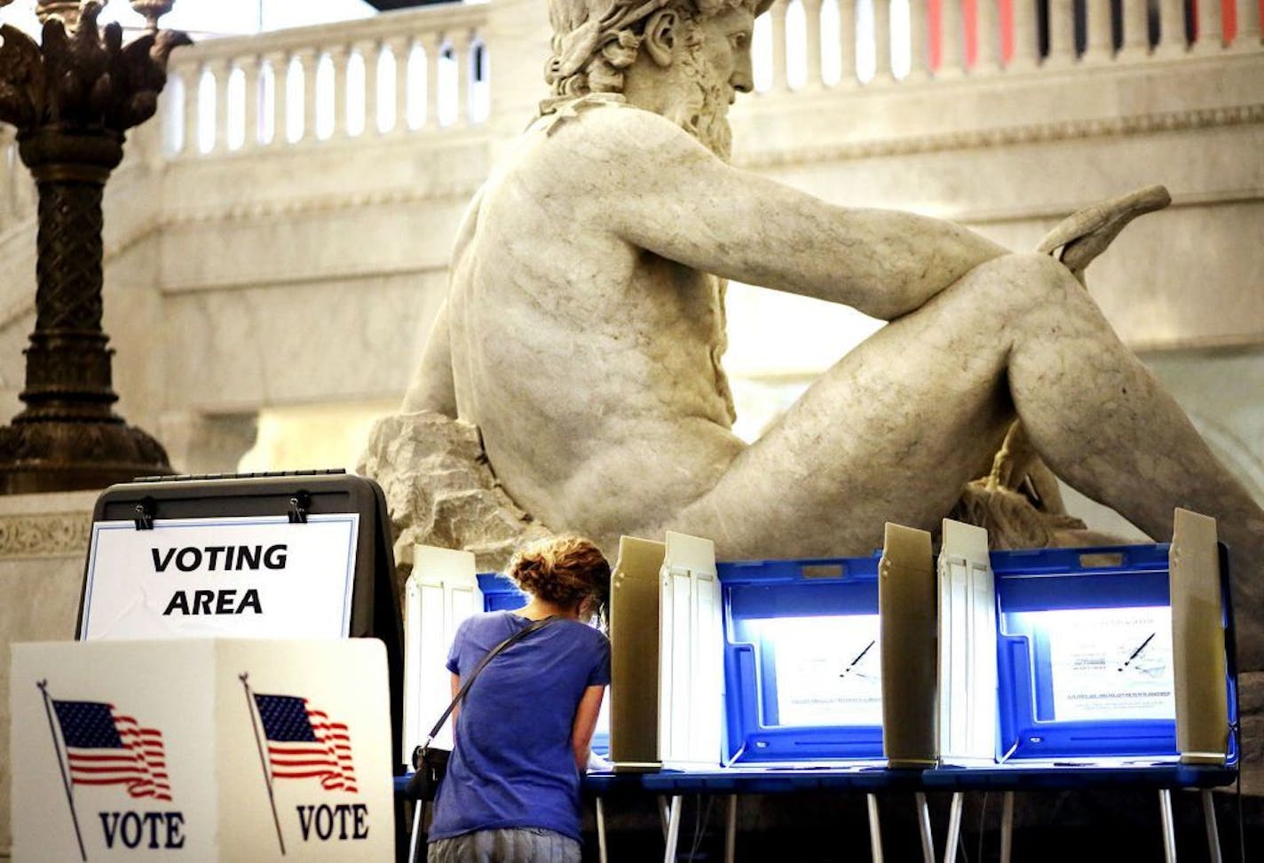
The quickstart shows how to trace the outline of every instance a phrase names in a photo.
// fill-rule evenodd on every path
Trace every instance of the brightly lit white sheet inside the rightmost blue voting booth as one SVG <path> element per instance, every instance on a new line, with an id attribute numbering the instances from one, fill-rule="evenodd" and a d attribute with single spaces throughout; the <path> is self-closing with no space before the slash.
<path id="1" fill-rule="evenodd" d="M 1174 719 L 1172 609 L 1031 615 L 1049 643 L 1054 721 Z"/>

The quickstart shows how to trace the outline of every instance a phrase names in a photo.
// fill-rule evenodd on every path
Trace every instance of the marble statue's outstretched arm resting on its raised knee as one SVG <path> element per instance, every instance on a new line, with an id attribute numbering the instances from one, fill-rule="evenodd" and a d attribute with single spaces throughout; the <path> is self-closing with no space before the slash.
<path id="1" fill-rule="evenodd" d="M 585 166 L 574 179 L 609 190 L 597 219 L 628 243 L 724 278 L 891 320 L 1006 253 L 953 222 L 839 207 L 738 171 L 646 111 L 592 111 L 573 131 L 583 133 L 575 162 Z M 621 163 L 621 183 L 602 179 Z"/>

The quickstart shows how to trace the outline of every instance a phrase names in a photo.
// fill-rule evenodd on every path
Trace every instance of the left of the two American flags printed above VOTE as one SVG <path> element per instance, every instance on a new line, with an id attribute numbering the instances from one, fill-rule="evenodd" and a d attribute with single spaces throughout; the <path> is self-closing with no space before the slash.
<path id="1" fill-rule="evenodd" d="M 124 785 L 133 797 L 171 800 L 162 732 L 101 701 L 53 700 L 75 785 Z"/>

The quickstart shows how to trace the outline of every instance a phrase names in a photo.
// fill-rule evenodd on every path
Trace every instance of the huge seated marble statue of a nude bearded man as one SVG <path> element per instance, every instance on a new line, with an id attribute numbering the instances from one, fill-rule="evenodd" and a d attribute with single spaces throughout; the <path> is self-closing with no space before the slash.
<path id="1" fill-rule="evenodd" d="M 726 115 L 769 5 L 550 0 L 552 96 L 459 229 L 404 413 L 474 423 L 501 488 L 552 529 L 612 547 L 671 528 L 724 558 L 933 528 L 1018 418 L 1058 476 L 1158 540 L 1177 505 L 1215 516 L 1239 608 L 1264 608 L 1264 512 L 1082 284 L 1162 192 L 1077 214 L 1054 256 L 737 171 Z M 726 279 L 890 323 L 747 445 L 720 366 Z M 1264 667 L 1264 620 L 1239 632 L 1244 667 Z"/>

